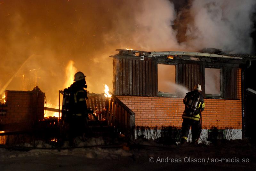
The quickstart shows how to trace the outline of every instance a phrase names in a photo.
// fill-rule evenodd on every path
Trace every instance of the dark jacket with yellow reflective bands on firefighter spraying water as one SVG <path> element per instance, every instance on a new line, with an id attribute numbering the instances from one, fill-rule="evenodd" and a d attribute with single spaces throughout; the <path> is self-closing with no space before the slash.
<path id="1" fill-rule="evenodd" d="M 196 102 L 196 97 L 199 97 L 198 102 Z M 192 103 L 191 103 L 192 102 Z M 196 103 L 195 103 L 196 102 Z M 192 120 L 200 120 L 200 111 L 204 111 L 204 98 L 200 95 L 200 92 L 197 90 L 190 91 L 186 94 L 183 99 L 183 103 L 185 105 L 185 110 L 183 112 L 182 118 L 192 119 Z M 192 111 L 191 105 L 195 104 L 195 110 Z"/>

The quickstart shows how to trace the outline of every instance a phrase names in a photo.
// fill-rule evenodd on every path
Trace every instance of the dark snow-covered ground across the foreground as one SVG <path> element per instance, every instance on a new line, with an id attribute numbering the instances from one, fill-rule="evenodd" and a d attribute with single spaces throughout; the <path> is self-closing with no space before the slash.
<path id="1" fill-rule="evenodd" d="M 169 145 L 138 139 L 129 147 L 107 146 L 102 137 L 82 141 L 77 148 L 14 151 L 0 148 L 0 170 L 254 170 L 256 148 L 248 141 L 217 145 Z M 22 144 L 20 144 L 22 145 Z M 23 144 L 31 147 L 31 144 Z M 92 145 L 93 147 L 84 147 Z M 95 145 L 100 145 L 95 147 Z M 39 149 L 40 147 L 40 149 Z M 64 144 L 63 147 L 68 147 Z M 217 160 L 218 159 L 218 160 Z M 207 161 L 208 160 L 208 161 Z"/>

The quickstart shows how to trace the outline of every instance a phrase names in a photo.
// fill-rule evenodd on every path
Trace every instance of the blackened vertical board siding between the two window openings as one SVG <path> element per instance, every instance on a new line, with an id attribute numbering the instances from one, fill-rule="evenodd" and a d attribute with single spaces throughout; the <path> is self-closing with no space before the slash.
<path id="1" fill-rule="evenodd" d="M 204 66 L 198 64 L 178 64 L 177 82 L 192 90 L 196 84 L 200 84 L 204 95 Z"/>

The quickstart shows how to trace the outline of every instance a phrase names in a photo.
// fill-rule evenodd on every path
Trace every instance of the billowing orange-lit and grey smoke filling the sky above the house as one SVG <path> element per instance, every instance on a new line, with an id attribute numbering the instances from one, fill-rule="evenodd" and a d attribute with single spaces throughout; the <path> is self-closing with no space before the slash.
<path id="1" fill-rule="evenodd" d="M 103 93 L 104 84 L 112 89 L 115 49 L 250 53 L 252 47 L 253 0 L 1 2 L 0 89 L 13 77 L 6 89 L 38 85 L 51 101 L 70 60 L 86 75 L 87 90 Z"/>

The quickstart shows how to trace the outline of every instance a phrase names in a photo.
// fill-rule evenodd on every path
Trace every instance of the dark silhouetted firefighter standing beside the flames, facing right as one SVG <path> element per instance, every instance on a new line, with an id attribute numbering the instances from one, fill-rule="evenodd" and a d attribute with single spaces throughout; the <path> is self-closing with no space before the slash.
<path id="1" fill-rule="evenodd" d="M 82 136 L 89 129 L 85 75 L 82 72 L 77 72 L 74 77 L 74 83 L 68 89 L 64 90 L 64 93 L 66 92 L 66 102 L 64 102 L 63 98 L 63 104 L 66 106 L 63 110 L 63 112 L 66 111 L 63 120 L 68 127 L 67 136 L 71 145 L 76 136 Z"/>

